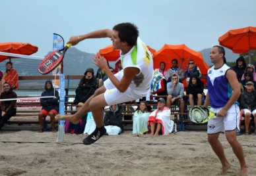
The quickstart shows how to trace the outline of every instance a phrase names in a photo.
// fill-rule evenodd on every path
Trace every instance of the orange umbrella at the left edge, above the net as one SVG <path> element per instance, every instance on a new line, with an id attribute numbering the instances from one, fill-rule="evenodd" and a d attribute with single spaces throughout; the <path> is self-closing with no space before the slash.
<path id="1" fill-rule="evenodd" d="M 7 42 L 0 43 L 0 51 L 5 53 L 13 53 L 18 55 L 32 55 L 38 51 L 38 47 L 31 45 L 30 43 L 20 43 L 20 42 Z M 13 56 L 1 56 L 0 62 L 7 58 L 15 58 Z"/>

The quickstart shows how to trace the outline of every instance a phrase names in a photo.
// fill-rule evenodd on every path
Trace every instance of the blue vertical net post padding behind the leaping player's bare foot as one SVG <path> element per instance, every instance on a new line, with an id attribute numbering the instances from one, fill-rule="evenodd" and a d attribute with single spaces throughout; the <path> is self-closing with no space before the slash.
<path id="1" fill-rule="evenodd" d="M 65 74 L 60 74 L 60 93 L 59 93 L 59 114 L 65 114 Z M 65 120 L 59 120 L 59 141 L 63 141 L 65 139 Z"/>

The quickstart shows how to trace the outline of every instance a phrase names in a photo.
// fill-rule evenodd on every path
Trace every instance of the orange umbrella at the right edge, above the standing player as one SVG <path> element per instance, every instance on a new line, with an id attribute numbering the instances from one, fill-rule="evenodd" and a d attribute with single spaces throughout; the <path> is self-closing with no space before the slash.
<path id="1" fill-rule="evenodd" d="M 249 53 L 251 63 L 251 50 L 256 49 L 256 27 L 248 26 L 229 30 L 218 38 L 220 45 L 231 49 L 234 53 Z"/>

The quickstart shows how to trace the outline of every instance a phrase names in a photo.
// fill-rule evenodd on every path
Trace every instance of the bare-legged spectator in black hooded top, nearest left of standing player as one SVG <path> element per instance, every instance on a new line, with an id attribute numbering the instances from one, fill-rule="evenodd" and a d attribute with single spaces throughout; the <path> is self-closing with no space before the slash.
<path id="1" fill-rule="evenodd" d="M 204 97 L 204 83 L 200 80 L 197 75 L 192 75 L 189 79 L 189 85 L 187 86 L 187 93 L 189 96 L 189 104 L 191 108 L 195 106 L 201 106 Z"/>

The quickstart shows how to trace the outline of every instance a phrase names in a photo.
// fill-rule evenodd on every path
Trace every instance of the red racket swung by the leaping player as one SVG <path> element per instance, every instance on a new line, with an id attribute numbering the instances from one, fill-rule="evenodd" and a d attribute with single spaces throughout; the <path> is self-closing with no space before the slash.
<path id="1" fill-rule="evenodd" d="M 69 43 L 63 49 L 49 53 L 49 55 L 47 55 L 38 65 L 38 72 L 44 75 L 54 70 L 54 68 L 56 68 L 59 65 L 59 63 L 63 60 L 67 49 L 69 49 L 71 45 L 72 44 Z"/>

